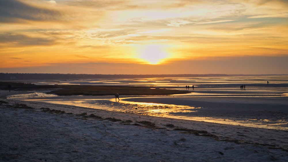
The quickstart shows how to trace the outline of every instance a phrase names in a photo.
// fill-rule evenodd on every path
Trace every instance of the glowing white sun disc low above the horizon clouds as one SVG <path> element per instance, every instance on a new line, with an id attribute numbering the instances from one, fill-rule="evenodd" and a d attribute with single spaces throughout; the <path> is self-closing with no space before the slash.
<path id="1" fill-rule="evenodd" d="M 163 59 L 169 57 L 166 48 L 161 44 L 149 44 L 141 47 L 140 49 L 140 58 L 143 59 L 148 64 L 156 65 L 160 64 Z"/>

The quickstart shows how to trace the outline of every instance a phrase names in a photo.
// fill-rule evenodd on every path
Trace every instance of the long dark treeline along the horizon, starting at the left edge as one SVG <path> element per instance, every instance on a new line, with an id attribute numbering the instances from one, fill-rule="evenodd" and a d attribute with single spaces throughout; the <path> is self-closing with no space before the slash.
<path id="1" fill-rule="evenodd" d="M 164 77 L 221 77 L 226 74 L 162 74 L 162 75 L 126 75 L 126 74 L 28 74 L 0 73 L 0 80 L 56 80 L 56 79 L 105 79 L 105 78 L 164 78 Z"/>

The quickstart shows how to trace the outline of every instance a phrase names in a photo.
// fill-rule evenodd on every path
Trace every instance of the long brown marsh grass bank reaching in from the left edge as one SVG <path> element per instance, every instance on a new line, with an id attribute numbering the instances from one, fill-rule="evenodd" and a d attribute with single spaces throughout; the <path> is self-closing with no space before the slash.
<path id="1" fill-rule="evenodd" d="M 37 91 L 51 90 L 50 94 L 59 96 L 68 95 L 173 95 L 185 94 L 189 91 L 178 91 L 175 89 L 151 88 L 145 86 L 89 86 L 89 85 L 36 85 L 30 83 L 16 82 L 0 82 L 0 89 L 8 90 L 8 85 L 11 85 L 11 90 L 17 91 Z"/>

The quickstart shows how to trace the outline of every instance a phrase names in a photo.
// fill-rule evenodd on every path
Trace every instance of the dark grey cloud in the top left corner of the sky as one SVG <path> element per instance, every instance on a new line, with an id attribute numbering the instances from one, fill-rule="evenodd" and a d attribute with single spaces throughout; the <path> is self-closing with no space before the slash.
<path id="1" fill-rule="evenodd" d="M 28 5 L 17 0 L 0 0 L 0 22 L 17 23 L 23 20 L 53 21 L 62 16 L 61 12 Z"/>

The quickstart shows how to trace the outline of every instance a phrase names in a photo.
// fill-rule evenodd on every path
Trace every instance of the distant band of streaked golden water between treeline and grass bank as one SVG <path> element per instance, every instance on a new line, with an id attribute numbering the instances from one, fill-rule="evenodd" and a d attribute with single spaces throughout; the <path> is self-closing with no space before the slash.
<path id="1" fill-rule="evenodd" d="M 48 81 L 24 81 L 34 84 L 79 84 L 79 85 L 122 85 L 122 86 L 160 86 L 184 88 L 186 85 L 192 88 L 209 87 L 213 85 L 225 86 L 225 84 L 235 84 L 238 88 L 241 84 L 288 84 L 288 76 L 239 76 L 239 77 L 189 77 L 189 78 L 135 78 L 135 79 L 76 79 L 76 80 L 48 80 Z M 238 86 L 239 85 L 239 86 Z"/>

